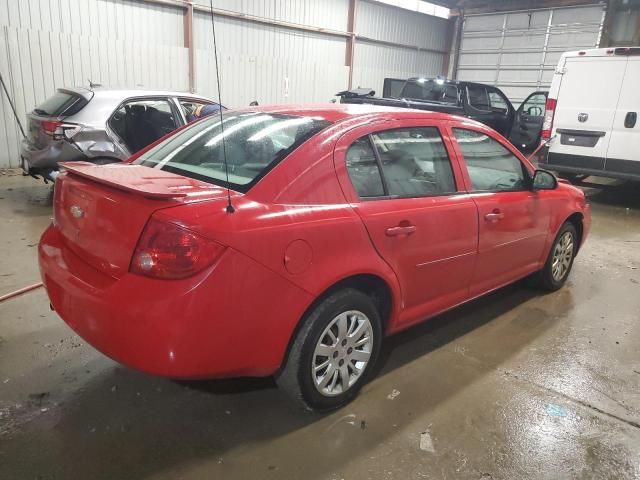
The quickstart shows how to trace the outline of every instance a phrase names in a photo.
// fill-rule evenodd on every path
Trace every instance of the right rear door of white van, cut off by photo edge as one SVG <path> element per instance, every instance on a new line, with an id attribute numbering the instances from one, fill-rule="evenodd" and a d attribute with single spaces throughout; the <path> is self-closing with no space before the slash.
<path id="1" fill-rule="evenodd" d="M 628 57 L 605 170 L 640 175 L 640 57 Z"/>

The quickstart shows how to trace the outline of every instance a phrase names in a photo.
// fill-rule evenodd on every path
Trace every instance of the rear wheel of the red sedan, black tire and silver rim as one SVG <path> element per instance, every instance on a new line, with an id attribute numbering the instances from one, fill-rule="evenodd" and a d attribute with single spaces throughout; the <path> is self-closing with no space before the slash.
<path id="1" fill-rule="evenodd" d="M 339 408 L 366 383 L 381 342 L 382 322 L 371 297 L 339 290 L 302 319 L 276 382 L 307 410 Z"/>

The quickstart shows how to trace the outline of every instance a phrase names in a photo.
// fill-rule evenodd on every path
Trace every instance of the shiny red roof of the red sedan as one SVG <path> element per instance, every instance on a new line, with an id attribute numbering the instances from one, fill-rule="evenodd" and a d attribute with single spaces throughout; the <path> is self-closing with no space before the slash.
<path id="1" fill-rule="evenodd" d="M 451 120 L 468 118 L 458 117 L 441 112 L 417 110 L 413 108 L 385 107 L 380 105 L 349 104 L 349 103 L 320 103 L 306 105 L 267 105 L 260 107 L 243 108 L 236 111 L 281 113 L 284 115 L 320 117 L 329 122 L 337 123 L 353 117 L 371 117 L 372 119 L 391 118 L 424 118 L 431 120 Z"/>

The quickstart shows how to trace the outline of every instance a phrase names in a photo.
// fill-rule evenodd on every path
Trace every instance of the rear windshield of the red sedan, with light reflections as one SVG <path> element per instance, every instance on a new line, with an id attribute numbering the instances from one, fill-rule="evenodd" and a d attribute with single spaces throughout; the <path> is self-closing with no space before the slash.
<path id="1" fill-rule="evenodd" d="M 300 144 L 329 125 L 324 119 L 262 112 L 206 118 L 141 155 L 133 163 L 246 192 Z M 224 130 L 224 132 L 223 132 Z M 223 142 L 224 139 L 224 142 Z"/>

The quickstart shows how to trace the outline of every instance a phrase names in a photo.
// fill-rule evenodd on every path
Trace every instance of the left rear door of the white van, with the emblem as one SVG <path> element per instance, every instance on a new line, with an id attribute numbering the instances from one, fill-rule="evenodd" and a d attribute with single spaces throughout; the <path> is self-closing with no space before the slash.
<path id="1" fill-rule="evenodd" d="M 569 57 L 558 93 L 552 151 L 567 165 L 604 169 L 627 57 Z M 586 157 L 586 158 L 585 158 Z"/>

